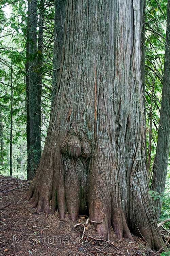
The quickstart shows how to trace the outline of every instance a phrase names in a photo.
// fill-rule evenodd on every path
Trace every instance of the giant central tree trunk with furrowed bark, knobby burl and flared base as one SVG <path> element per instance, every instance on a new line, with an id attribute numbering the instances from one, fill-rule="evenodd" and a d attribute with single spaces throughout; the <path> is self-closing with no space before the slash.
<path id="1" fill-rule="evenodd" d="M 48 136 L 28 191 L 37 211 L 129 228 L 159 248 L 148 195 L 140 75 L 140 0 L 68 1 L 63 60 Z M 128 228 L 129 227 L 129 228 Z"/>

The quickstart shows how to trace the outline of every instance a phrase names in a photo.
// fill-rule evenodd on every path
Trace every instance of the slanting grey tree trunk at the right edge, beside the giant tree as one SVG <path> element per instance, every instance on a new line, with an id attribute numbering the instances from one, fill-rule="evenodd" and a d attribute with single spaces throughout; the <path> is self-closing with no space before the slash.
<path id="1" fill-rule="evenodd" d="M 151 190 L 157 191 L 159 194 L 165 190 L 165 181 L 167 175 L 169 150 L 170 150 L 170 0 L 168 0 L 167 9 L 167 33 L 166 33 L 166 50 L 165 50 L 165 67 L 164 81 L 162 91 L 162 102 L 160 109 L 158 142 L 156 147 L 156 155 L 153 167 L 153 177 L 151 182 Z M 160 198 L 155 200 L 155 214 L 158 218 L 160 215 L 162 202 Z"/>

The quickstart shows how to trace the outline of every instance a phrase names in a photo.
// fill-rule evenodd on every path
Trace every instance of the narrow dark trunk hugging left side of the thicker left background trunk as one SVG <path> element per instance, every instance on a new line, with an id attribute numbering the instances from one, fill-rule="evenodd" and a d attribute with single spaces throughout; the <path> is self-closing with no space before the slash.
<path id="1" fill-rule="evenodd" d="M 30 67 L 30 55 L 29 55 L 29 47 L 30 47 L 30 0 L 28 0 L 28 17 L 27 17 L 27 35 L 26 35 L 26 97 L 27 97 L 27 179 L 30 177 L 30 162 L 31 162 L 31 154 L 30 154 L 30 110 L 29 110 L 29 67 Z"/>

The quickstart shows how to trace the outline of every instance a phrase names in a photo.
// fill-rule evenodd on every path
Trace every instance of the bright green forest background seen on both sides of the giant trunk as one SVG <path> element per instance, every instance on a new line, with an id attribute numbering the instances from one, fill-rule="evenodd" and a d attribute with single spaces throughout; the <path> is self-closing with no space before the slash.
<path id="1" fill-rule="evenodd" d="M 60 2 L 60 1 L 59 1 Z M 47 136 L 51 101 L 52 77 L 57 68 L 53 64 L 55 32 L 54 1 L 39 0 L 37 16 L 37 65 L 40 85 L 41 150 Z M 28 3 L 1 1 L 0 3 L 0 174 L 27 179 L 27 90 L 29 73 L 27 62 Z M 151 182 L 156 154 L 160 106 L 162 99 L 166 40 L 166 0 L 146 1 L 142 47 L 145 48 L 144 99 L 146 104 L 147 172 Z M 43 33 L 43 40 L 41 41 Z M 145 36 L 144 36 L 145 35 Z M 168 165 L 165 193 L 151 191 L 153 199 L 163 201 L 161 219 L 170 214 L 170 166 Z"/>

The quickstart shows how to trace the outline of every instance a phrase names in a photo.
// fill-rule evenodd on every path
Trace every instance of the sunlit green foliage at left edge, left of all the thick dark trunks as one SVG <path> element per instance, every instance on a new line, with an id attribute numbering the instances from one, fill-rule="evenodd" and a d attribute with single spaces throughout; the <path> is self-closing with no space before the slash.
<path id="1" fill-rule="evenodd" d="M 10 1 L 11 2 L 11 1 Z M 0 172 L 10 175 L 10 130 L 11 130 L 11 71 L 13 75 L 13 140 L 12 140 L 12 165 L 14 176 L 23 176 L 17 172 L 16 155 L 18 154 L 17 145 L 22 148 L 22 170 L 24 172 L 24 157 L 26 142 L 25 130 L 25 90 L 23 59 L 23 29 L 21 17 L 25 18 L 26 5 L 24 1 L 12 2 L 13 13 L 6 11 L 8 3 L 0 3 L 0 109 L 1 120 L 3 122 L 3 165 Z M 19 12 L 18 12 L 19 10 Z M 16 13 L 18 12 L 18 13 Z M 20 28 L 20 29 L 19 29 Z M 17 47 L 16 47 L 17 45 Z M 12 62 L 12 67 L 11 67 Z"/>

